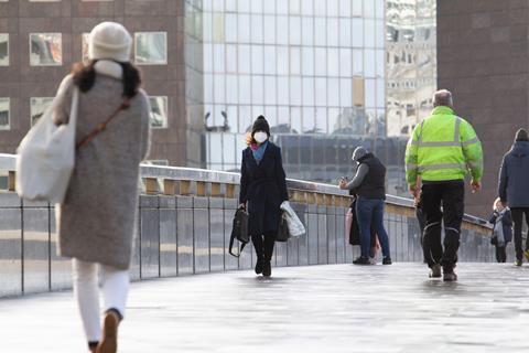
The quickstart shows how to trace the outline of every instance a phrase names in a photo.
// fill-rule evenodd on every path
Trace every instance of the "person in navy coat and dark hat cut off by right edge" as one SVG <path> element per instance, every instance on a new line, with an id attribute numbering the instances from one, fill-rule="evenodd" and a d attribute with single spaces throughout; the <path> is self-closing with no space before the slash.
<path id="1" fill-rule="evenodd" d="M 515 223 L 516 266 L 521 266 L 523 256 L 529 260 L 529 237 L 522 247 L 523 215 L 529 224 L 529 136 L 527 130 L 516 132 L 515 143 L 504 156 L 499 170 L 498 194 L 504 207 L 510 207 Z"/>

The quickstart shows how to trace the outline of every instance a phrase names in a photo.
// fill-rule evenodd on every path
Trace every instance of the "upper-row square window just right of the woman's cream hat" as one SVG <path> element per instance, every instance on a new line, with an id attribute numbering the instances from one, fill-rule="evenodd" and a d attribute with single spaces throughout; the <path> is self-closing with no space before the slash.
<path id="1" fill-rule="evenodd" d="M 138 32 L 136 39 L 136 63 L 138 65 L 168 64 L 168 33 Z"/>

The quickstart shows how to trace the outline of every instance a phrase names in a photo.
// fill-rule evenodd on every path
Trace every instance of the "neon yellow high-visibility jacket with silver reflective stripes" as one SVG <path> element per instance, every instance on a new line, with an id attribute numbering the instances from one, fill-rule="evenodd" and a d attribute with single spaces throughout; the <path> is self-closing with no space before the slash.
<path id="1" fill-rule="evenodd" d="M 424 181 L 464 179 L 471 172 L 475 181 L 483 175 L 483 150 L 476 132 L 450 107 L 435 107 L 432 115 L 413 129 L 406 148 L 406 179 L 415 185 Z"/>

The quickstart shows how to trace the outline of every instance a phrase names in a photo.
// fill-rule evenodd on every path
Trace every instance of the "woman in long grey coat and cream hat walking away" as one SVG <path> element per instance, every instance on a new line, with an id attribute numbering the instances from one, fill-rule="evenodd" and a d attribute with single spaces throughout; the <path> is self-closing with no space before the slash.
<path id="1" fill-rule="evenodd" d="M 55 124 L 68 124 L 73 92 L 79 90 L 75 169 L 57 210 L 58 250 L 73 258 L 74 295 L 93 353 L 117 351 L 129 289 L 139 163 L 150 143 L 149 99 L 129 61 L 131 45 L 121 24 L 96 25 L 89 61 L 74 66 L 53 106 Z M 98 130 L 105 121 L 106 129 Z"/>

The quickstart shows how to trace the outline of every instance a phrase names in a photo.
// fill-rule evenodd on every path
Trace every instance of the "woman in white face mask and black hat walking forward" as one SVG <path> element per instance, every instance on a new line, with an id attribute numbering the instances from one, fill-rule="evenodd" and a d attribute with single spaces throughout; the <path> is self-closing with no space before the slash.
<path id="1" fill-rule="evenodd" d="M 256 274 L 270 277 L 270 261 L 280 221 L 280 206 L 289 200 L 281 149 L 269 141 L 270 127 L 263 116 L 253 122 L 240 167 L 240 207 L 249 214 L 248 232 L 256 248 Z"/>

